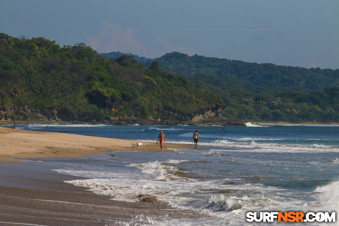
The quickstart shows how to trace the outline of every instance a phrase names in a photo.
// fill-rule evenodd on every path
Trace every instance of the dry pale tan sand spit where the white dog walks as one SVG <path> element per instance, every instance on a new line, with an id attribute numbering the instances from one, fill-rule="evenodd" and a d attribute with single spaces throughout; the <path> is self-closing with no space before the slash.
<path id="1" fill-rule="evenodd" d="M 0 127 L 0 161 L 17 161 L 13 158 L 76 157 L 113 151 L 160 151 L 160 145 L 155 142 L 142 142 L 143 148 L 138 148 L 136 143 L 137 140 Z M 163 151 L 172 151 L 167 148 L 193 149 L 194 145 L 164 143 Z"/>

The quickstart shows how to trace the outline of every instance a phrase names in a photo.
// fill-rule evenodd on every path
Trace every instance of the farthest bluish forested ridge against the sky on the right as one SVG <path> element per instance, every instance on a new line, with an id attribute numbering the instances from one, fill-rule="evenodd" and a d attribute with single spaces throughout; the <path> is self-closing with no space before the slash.
<path id="1" fill-rule="evenodd" d="M 199 55 L 188 56 L 179 52 L 167 53 L 159 58 L 161 67 L 195 80 L 217 79 L 213 85 L 220 86 L 218 78 L 237 81 L 244 86 L 287 88 L 309 92 L 327 86 L 339 86 L 339 69 L 300 68 L 279 66 L 273 63 L 248 63 L 240 60 L 219 59 Z M 215 78 L 213 78 L 215 77 Z M 223 89 L 227 88 L 222 86 Z"/>

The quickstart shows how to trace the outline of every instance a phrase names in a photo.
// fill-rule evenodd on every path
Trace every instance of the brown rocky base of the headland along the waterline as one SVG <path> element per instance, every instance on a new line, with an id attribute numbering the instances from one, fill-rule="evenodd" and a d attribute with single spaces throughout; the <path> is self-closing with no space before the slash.
<path id="1" fill-rule="evenodd" d="M 82 120 L 66 109 L 33 109 L 26 105 L 9 104 L 0 106 L 0 121 L 3 124 L 14 123 L 76 123 L 76 124 L 105 124 L 105 125 L 220 125 L 246 126 L 241 119 L 231 119 L 220 115 L 221 106 L 215 109 L 205 109 L 189 115 L 179 114 L 163 109 L 160 119 L 152 117 L 141 118 L 134 116 L 106 117 L 103 120 Z"/>

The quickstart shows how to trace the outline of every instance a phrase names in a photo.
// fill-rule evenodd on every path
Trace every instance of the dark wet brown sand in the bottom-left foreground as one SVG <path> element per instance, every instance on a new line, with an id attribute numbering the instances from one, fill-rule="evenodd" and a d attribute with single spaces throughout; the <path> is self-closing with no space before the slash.
<path id="1" fill-rule="evenodd" d="M 83 180 L 38 163 L 0 162 L 1 225 L 124 225 L 206 217 L 162 202 L 124 202 L 65 183 Z"/>

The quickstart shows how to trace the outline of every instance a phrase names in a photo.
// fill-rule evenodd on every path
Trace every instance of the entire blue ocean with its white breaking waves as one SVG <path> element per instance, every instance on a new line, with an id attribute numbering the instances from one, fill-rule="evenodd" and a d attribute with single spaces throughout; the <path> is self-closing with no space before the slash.
<path id="1" fill-rule="evenodd" d="M 339 209 L 339 127 L 247 123 L 247 127 L 26 124 L 17 128 L 145 142 L 156 142 L 162 129 L 166 143 L 192 146 L 193 133 L 198 130 L 198 149 L 118 151 L 72 161 L 26 160 L 57 166 L 60 173 L 91 178 L 66 182 L 114 200 L 133 202 L 133 195 L 149 194 L 172 207 L 207 215 L 202 219 L 164 216 L 164 221 L 133 216 L 139 217 L 138 221 L 122 221 L 122 225 L 290 225 L 247 222 L 246 213 Z"/>

